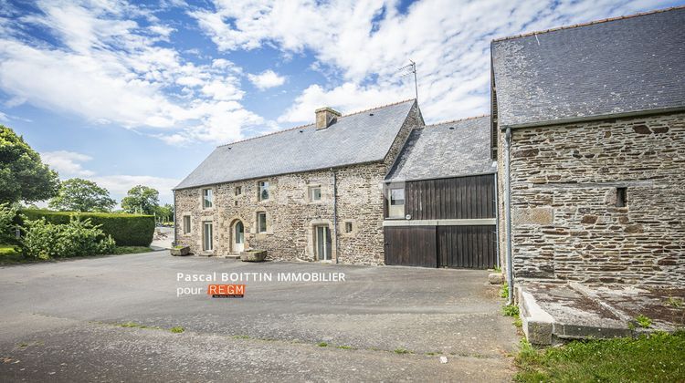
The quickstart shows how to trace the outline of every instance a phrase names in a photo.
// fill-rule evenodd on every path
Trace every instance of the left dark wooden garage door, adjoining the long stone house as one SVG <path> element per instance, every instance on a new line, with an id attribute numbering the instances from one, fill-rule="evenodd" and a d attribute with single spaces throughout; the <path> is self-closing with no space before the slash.
<path id="1" fill-rule="evenodd" d="M 435 226 L 385 227 L 385 264 L 437 267 Z"/>

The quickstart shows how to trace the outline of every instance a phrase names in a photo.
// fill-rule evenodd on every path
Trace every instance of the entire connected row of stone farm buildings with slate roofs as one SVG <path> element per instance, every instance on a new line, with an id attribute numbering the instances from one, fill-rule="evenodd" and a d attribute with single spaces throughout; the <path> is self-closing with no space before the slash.
<path id="1" fill-rule="evenodd" d="M 216 148 L 175 241 L 283 260 L 685 284 L 685 7 L 491 44 L 490 116 L 416 100 Z"/>

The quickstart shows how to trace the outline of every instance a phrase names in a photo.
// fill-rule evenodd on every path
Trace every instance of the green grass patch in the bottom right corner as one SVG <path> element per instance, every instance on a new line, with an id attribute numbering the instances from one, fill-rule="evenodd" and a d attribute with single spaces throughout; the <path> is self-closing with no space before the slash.
<path id="1" fill-rule="evenodd" d="M 520 382 L 685 381 L 685 331 L 638 338 L 574 341 L 543 350 L 522 340 Z"/>

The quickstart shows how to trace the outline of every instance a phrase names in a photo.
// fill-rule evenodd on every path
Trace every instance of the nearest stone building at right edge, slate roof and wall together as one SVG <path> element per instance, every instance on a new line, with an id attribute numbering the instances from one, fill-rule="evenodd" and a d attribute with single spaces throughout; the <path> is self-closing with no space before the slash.
<path id="1" fill-rule="evenodd" d="M 685 285 L 683 26 L 677 8 L 492 42 L 515 278 Z"/>

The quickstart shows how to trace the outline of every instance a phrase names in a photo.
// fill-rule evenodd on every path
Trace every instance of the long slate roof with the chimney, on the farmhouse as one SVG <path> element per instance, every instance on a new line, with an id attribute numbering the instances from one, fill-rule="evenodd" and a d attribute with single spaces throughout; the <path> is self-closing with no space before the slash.
<path id="1" fill-rule="evenodd" d="M 174 190 L 384 160 L 414 103 L 342 116 L 327 129 L 311 124 L 219 146 Z"/>

